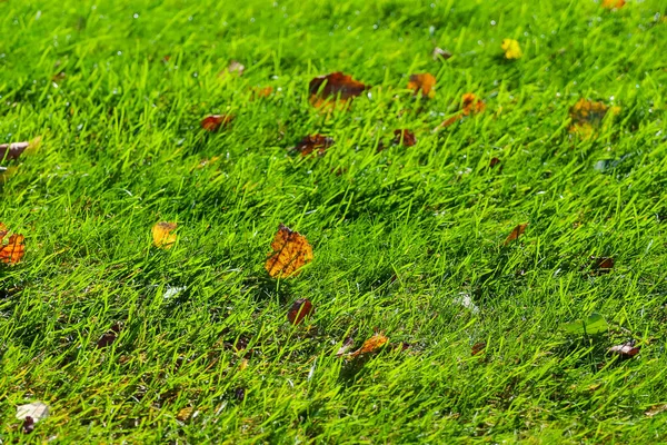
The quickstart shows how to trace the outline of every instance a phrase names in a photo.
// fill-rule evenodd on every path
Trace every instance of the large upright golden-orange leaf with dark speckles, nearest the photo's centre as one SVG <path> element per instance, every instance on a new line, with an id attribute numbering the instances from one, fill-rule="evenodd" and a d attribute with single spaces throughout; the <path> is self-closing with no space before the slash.
<path id="1" fill-rule="evenodd" d="M 312 261 L 312 247 L 306 237 L 298 231 L 280 225 L 265 268 L 272 278 L 296 277 L 300 268 Z"/>

